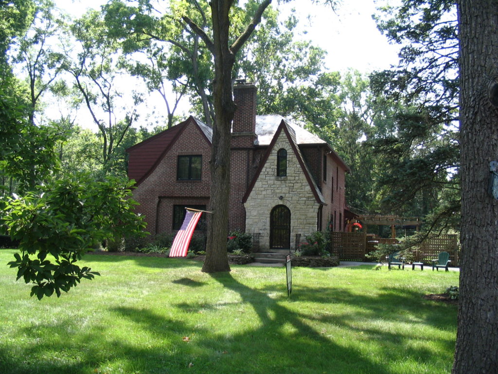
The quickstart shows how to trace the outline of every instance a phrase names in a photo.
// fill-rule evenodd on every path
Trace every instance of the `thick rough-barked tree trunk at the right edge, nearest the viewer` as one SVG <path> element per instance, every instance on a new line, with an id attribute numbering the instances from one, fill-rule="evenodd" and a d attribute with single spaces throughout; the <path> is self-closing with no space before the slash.
<path id="1" fill-rule="evenodd" d="M 498 81 L 498 1 L 460 0 L 458 13 L 462 254 L 452 373 L 497 373 L 498 202 L 488 181 L 498 158 L 498 108 L 489 95 Z"/>

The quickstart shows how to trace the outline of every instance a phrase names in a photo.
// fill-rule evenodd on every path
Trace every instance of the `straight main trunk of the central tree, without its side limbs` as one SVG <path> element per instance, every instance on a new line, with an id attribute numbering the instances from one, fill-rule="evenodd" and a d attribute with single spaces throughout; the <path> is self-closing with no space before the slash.
<path id="1" fill-rule="evenodd" d="M 212 0 L 216 118 L 211 146 L 211 195 L 213 214 L 208 221 L 206 260 L 202 271 L 230 271 L 227 256 L 228 209 L 230 195 L 230 128 L 236 106 L 232 96 L 232 68 L 235 56 L 229 49 L 229 11 L 232 1 Z"/>

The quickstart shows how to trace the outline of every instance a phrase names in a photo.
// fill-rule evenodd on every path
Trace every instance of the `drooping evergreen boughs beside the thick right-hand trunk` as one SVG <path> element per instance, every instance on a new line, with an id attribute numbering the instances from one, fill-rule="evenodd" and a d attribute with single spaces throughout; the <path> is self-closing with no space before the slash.
<path id="1" fill-rule="evenodd" d="M 387 127 L 380 127 L 370 141 L 382 159 L 379 207 L 426 216 L 426 232 L 458 229 L 455 4 L 402 0 L 398 7 L 381 10 L 379 29 L 403 47 L 396 69 L 371 76 L 374 95 L 396 103 L 385 118 Z"/>

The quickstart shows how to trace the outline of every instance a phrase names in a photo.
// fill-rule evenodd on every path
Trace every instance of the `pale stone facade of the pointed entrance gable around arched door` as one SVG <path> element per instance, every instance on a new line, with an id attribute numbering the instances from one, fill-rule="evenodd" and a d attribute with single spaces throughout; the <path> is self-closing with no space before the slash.
<path id="1" fill-rule="evenodd" d="M 287 151 L 287 176 L 277 177 L 277 152 L 282 148 Z M 276 205 L 285 205 L 290 210 L 291 249 L 295 249 L 296 234 L 304 237 L 317 230 L 317 213 L 320 204 L 316 201 L 290 141 L 283 131 L 244 205 L 246 230 L 260 233 L 260 250 L 269 249 L 270 213 Z"/>

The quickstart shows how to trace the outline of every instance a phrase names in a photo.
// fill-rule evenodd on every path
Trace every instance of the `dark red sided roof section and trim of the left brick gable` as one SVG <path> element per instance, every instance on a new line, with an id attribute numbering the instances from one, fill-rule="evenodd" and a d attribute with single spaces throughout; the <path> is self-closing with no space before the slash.
<path id="1" fill-rule="evenodd" d="M 197 118 L 190 116 L 171 129 L 162 131 L 126 149 L 129 161 L 131 161 L 128 162 L 128 178 L 134 179 L 137 184 L 143 181 L 156 168 L 189 123 L 198 126 L 211 144 L 213 130 Z"/>

